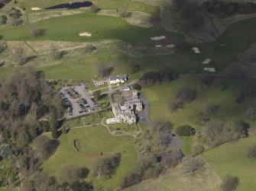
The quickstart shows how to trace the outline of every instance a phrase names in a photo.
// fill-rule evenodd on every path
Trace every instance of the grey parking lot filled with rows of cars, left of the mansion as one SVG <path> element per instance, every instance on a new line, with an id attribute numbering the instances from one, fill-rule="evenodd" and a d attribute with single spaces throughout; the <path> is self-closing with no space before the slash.
<path id="1" fill-rule="evenodd" d="M 89 89 L 86 84 L 66 85 L 60 89 L 60 97 L 68 106 L 69 118 L 100 109 L 94 97 L 88 93 Z"/>

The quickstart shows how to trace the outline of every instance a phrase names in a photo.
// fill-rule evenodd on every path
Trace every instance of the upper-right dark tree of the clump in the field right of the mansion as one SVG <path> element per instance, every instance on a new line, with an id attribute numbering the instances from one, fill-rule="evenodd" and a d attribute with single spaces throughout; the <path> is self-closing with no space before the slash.
<path id="1" fill-rule="evenodd" d="M 175 97 L 182 103 L 191 103 L 196 99 L 196 91 L 189 86 L 178 88 Z"/>

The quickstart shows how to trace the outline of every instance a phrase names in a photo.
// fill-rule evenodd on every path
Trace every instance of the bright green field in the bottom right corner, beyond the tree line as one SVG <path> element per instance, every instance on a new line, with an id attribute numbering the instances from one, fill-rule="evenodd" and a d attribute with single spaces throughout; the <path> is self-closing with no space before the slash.
<path id="1" fill-rule="evenodd" d="M 203 156 L 210 166 L 223 178 L 227 173 L 239 178 L 238 191 L 254 190 L 256 187 L 256 160 L 246 157 L 248 147 L 256 143 L 255 137 L 228 142 Z"/>

